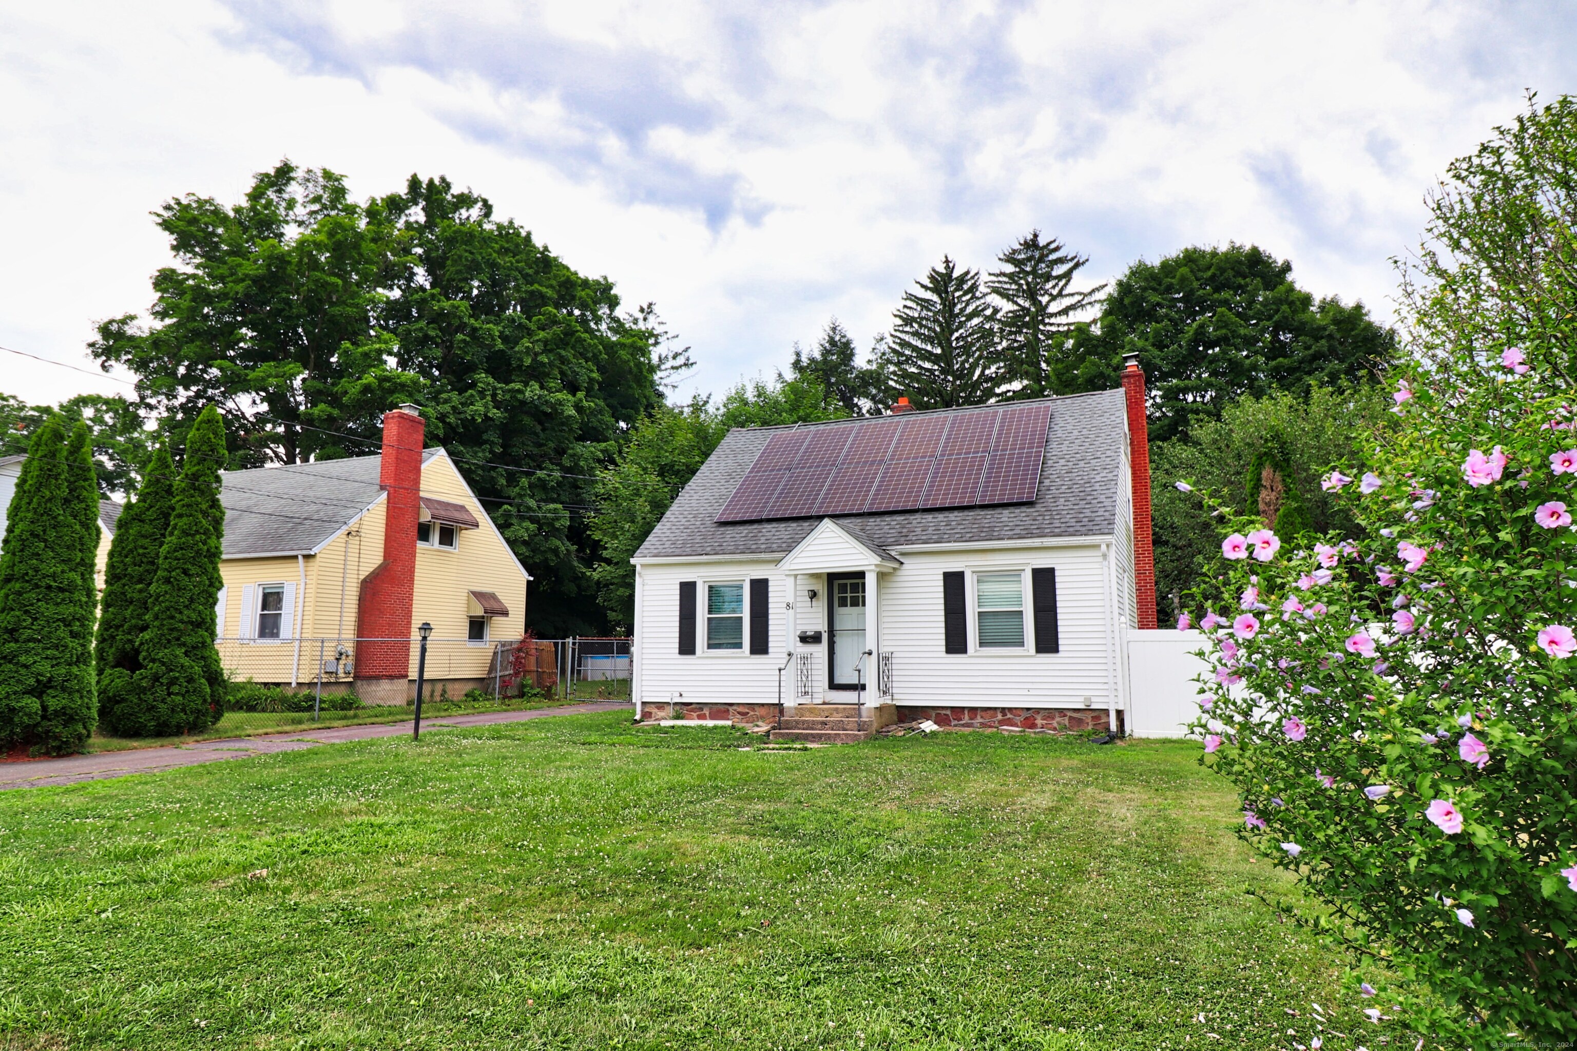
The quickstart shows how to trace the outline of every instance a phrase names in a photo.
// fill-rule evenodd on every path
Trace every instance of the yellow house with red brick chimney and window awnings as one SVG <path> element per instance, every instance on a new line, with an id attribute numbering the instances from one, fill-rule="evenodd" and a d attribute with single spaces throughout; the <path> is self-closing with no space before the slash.
<path id="1" fill-rule="evenodd" d="M 419 418 L 412 425 L 419 449 Z M 364 701 L 404 703 L 415 690 L 418 627 L 431 624 L 426 676 L 454 696 L 487 685 L 498 646 L 522 637 L 531 577 L 442 448 L 419 452 L 419 511 L 405 531 L 415 542 L 390 536 L 390 495 L 401 488 L 388 484 L 390 449 L 386 436 L 380 455 L 222 473 L 219 654 L 233 679 L 306 687 L 322 670 L 326 692 L 355 684 Z M 410 452 L 394 455 L 415 468 Z M 364 583 L 391 558 L 408 569 L 412 555 L 404 613 Z M 378 644 L 377 678 L 361 659 L 369 622 L 401 626 L 375 632 L 396 640 Z M 391 646 L 408 646 L 404 678 L 390 673 Z"/>

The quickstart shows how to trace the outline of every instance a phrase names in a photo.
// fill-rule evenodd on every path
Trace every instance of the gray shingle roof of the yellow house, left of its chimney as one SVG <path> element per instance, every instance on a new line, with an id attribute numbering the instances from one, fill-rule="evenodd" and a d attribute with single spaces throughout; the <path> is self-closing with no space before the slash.
<path id="1" fill-rule="evenodd" d="M 421 462 L 440 449 L 426 449 Z M 226 471 L 224 556 L 296 555 L 315 550 L 372 506 L 382 455 Z"/>

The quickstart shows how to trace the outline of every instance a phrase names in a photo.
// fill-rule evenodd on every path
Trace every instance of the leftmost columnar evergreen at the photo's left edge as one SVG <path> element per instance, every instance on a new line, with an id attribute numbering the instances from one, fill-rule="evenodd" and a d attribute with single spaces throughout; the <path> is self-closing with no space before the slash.
<path id="1" fill-rule="evenodd" d="M 85 424 L 47 419 L 28 446 L 0 556 L 0 742 L 79 752 L 93 733 L 98 488 Z"/>

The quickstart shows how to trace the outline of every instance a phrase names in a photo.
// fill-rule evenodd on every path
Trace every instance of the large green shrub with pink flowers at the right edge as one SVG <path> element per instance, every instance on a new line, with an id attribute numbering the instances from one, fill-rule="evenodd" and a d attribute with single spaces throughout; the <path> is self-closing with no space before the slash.
<path id="1" fill-rule="evenodd" d="M 1405 1024 L 1474 1046 L 1577 1037 L 1577 252 L 1569 217 L 1534 222 L 1571 197 L 1520 192 L 1515 167 L 1552 139 L 1571 175 L 1568 99 L 1435 202 L 1454 255 L 1426 246 L 1404 285 L 1397 425 L 1361 481 L 1325 481 L 1364 534 L 1277 539 L 1221 507 L 1195 596 L 1195 728 L 1241 835 L 1329 906 L 1312 922 L 1429 983 Z M 1523 249 L 1497 255 L 1508 230 Z"/>

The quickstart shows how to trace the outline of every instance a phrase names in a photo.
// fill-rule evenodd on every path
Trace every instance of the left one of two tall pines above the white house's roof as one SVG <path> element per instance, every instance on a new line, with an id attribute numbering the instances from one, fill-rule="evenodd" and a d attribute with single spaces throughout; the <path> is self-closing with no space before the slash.
<path id="1" fill-rule="evenodd" d="M 957 269 L 941 257 L 919 288 L 904 293 L 893 314 L 883 361 L 889 383 L 916 408 L 982 405 L 1001 389 L 997 358 L 997 309 L 981 288 L 979 271 Z"/>

